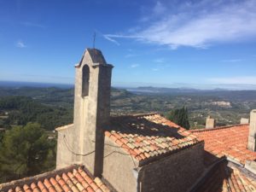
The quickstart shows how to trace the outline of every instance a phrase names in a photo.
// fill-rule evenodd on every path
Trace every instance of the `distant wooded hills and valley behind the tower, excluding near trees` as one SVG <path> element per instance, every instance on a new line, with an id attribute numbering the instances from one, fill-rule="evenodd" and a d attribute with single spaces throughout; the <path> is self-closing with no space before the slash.
<path id="1" fill-rule="evenodd" d="M 147 88 L 148 89 L 148 88 Z M 207 115 L 217 125 L 237 124 L 256 108 L 255 90 L 170 90 L 130 92 L 112 89 L 111 113 L 169 113 L 188 108 L 191 128 L 203 127 Z M 0 87 L 0 128 L 38 122 L 46 130 L 73 121 L 73 89 Z"/>

